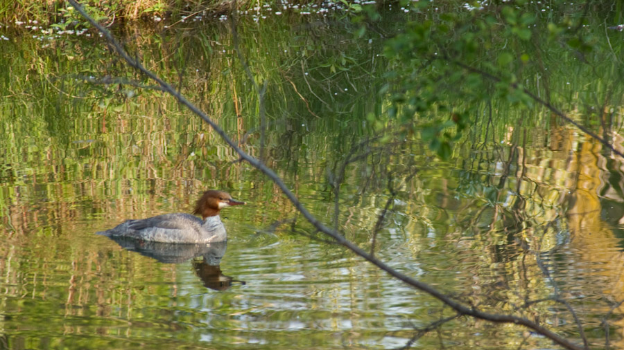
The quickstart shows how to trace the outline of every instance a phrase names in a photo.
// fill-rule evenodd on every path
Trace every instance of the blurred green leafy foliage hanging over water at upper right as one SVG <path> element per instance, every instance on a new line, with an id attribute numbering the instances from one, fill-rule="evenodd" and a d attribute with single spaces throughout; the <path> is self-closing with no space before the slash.
<path id="1" fill-rule="evenodd" d="M 612 30 L 623 20 L 621 3 L 481 1 L 463 11 L 451 10 L 462 1 L 401 5 L 415 17 L 385 46 L 393 62 L 384 88 L 392 104 L 388 118 L 406 132 L 419 129 L 442 158 L 486 111 L 510 109 L 518 118 L 554 105 L 580 109 L 593 118 L 590 125 L 604 127 L 596 111 L 622 100 L 623 86 L 613 77 L 624 75 L 623 46 L 621 33 Z M 371 10 L 367 17 L 379 19 Z M 574 99 L 563 89 L 571 80 L 587 84 Z M 609 88 L 600 89 L 603 84 Z"/>

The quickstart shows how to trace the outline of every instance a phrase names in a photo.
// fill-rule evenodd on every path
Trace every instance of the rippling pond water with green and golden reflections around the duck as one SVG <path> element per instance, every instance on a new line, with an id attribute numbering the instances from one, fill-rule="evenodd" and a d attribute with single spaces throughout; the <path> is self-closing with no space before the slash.
<path id="1" fill-rule="evenodd" d="M 264 132 L 225 24 L 197 35 L 144 29 L 132 45 L 245 151 L 263 154 L 313 214 L 392 267 L 485 311 L 512 313 L 559 293 L 592 344 L 604 344 L 607 315 L 619 346 L 621 310 L 609 311 L 624 300 L 621 159 L 571 127 L 541 123 L 544 111 L 519 126 L 476 117 L 447 161 L 417 135 L 375 138 L 367 115 L 388 108 L 378 93 L 388 62 L 379 36 L 354 39 L 350 26 L 243 22 L 243 53 L 267 82 Z M 44 48 L 16 37 L 0 59 L 9 68 L 0 73 L 0 348 L 390 349 L 452 315 L 319 241 L 275 185 L 175 100 L 139 89 L 150 83 L 98 39 Z M 621 134 L 612 138 L 621 147 Z M 218 264 L 196 252 L 173 264 L 94 234 L 190 212 L 207 188 L 249 203 L 224 210 L 229 240 Z M 580 342 L 562 304 L 518 312 Z M 463 317 L 417 340 L 441 344 L 552 347 Z"/>

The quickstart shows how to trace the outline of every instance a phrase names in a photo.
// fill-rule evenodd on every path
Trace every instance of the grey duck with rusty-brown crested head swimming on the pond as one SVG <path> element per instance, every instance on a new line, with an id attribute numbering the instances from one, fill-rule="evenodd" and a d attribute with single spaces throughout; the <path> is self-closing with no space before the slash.
<path id="1" fill-rule="evenodd" d="M 232 205 L 246 204 L 227 192 L 208 190 L 198 199 L 193 214 L 162 214 L 147 219 L 130 219 L 110 230 L 97 232 L 107 237 L 129 237 L 162 243 L 214 243 L 227 241 L 219 212 Z"/>

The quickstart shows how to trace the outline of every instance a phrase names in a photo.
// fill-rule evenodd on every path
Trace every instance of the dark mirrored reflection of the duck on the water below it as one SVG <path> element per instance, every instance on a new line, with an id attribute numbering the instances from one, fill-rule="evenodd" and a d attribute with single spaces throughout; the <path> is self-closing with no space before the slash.
<path id="1" fill-rule="evenodd" d="M 234 283 L 245 284 L 232 277 L 223 275 L 219 266 L 225 255 L 227 242 L 181 244 L 142 241 L 128 237 L 109 237 L 121 248 L 138 252 L 165 264 L 181 264 L 193 259 L 193 270 L 200 277 L 204 286 L 216 291 L 225 291 Z"/>

